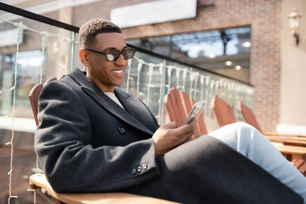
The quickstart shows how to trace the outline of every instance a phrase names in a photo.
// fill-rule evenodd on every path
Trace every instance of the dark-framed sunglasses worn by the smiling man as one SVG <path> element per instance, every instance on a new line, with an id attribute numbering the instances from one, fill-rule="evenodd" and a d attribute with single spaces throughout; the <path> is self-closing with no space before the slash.
<path id="1" fill-rule="evenodd" d="M 86 47 L 84 48 L 85 50 L 88 49 L 94 53 L 97 53 L 97 54 L 100 54 L 100 55 L 105 55 L 106 56 L 106 59 L 107 61 L 109 62 L 114 62 L 116 60 L 118 60 L 118 58 L 120 57 L 120 55 L 122 54 L 124 59 L 125 60 L 128 60 L 128 59 L 132 59 L 136 53 L 136 49 L 134 48 L 131 48 L 131 47 L 127 47 L 125 49 L 123 49 L 122 51 L 120 50 L 109 50 L 107 53 L 102 53 L 102 52 L 99 52 L 95 49 L 92 49 L 92 48 L 89 48 L 89 47 Z"/>

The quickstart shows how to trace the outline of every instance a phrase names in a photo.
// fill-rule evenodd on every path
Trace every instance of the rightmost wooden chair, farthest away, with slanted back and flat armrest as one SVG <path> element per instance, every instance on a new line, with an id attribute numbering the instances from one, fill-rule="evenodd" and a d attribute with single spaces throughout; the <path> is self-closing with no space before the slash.
<path id="1" fill-rule="evenodd" d="M 280 133 L 273 133 L 273 132 L 263 132 L 257 119 L 253 113 L 253 111 L 243 104 L 240 100 L 238 101 L 238 110 L 242 113 L 242 116 L 246 123 L 255 127 L 258 131 L 262 134 L 267 136 L 281 136 L 290 139 L 290 137 L 306 137 L 306 135 L 295 135 L 295 134 L 280 134 Z"/>

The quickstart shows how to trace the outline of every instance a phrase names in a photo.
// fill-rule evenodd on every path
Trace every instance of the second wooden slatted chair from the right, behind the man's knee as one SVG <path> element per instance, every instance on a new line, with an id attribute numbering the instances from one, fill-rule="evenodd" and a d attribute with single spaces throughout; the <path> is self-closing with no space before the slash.
<path id="1" fill-rule="evenodd" d="M 232 107 L 228 105 L 223 99 L 219 98 L 217 95 L 213 96 L 212 107 L 220 127 L 237 122 Z M 280 142 L 279 140 L 277 140 L 277 138 L 274 141 Z M 296 140 L 297 144 L 299 144 L 300 141 L 302 141 L 303 143 L 305 140 Z M 279 151 L 281 151 L 282 154 L 289 161 L 297 161 L 298 159 L 305 159 L 306 147 L 291 146 L 291 145 L 275 145 L 275 147 Z M 303 169 L 301 170 L 303 171 Z M 303 171 L 303 173 L 305 172 Z"/>

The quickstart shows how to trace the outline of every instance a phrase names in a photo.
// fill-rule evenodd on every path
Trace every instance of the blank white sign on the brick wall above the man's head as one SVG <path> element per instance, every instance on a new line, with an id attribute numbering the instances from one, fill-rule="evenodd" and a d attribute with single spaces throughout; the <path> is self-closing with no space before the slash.
<path id="1" fill-rule="evenodd" d="M 196 17 L 197 0 L 161 0 L 111 10 L 110 20 L 120 28 Z"/>

